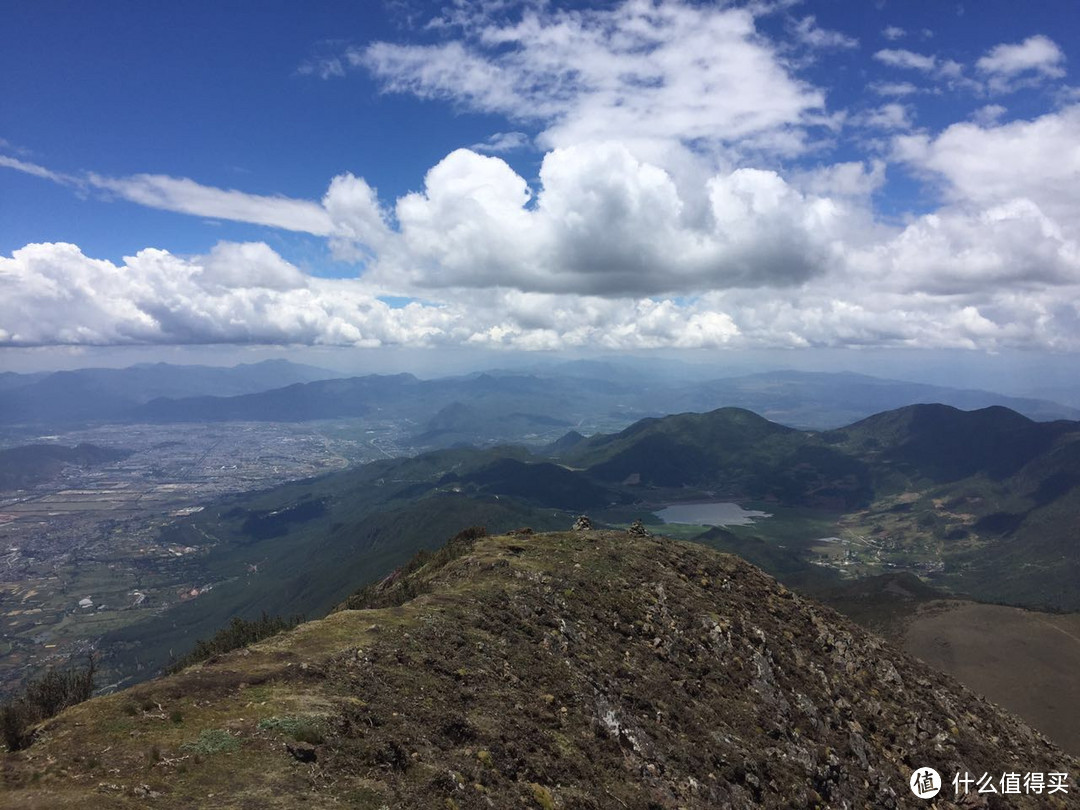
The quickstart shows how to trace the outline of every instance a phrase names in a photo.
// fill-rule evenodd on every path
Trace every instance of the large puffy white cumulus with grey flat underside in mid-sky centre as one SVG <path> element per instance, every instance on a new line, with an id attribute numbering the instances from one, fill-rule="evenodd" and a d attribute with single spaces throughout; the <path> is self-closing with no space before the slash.
<path id="1" fill-rule="evenodd" d="M 846 227 L 841 203 L 750 168 L 702 183 L 699 220 L 667 172 L 616 143 L 549 152 L 540 184 L 527 206 L 502 160 L 453 152 L 397 201 L 400 232 L 373 278 L 608 296 L 797 284 L 824 270 Z"/>

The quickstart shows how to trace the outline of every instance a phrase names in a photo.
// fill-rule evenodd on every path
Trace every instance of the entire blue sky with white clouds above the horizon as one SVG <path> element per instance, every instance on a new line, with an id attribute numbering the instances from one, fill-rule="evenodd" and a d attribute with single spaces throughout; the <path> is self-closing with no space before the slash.
<path id="1" fill-rule="evenodd" d="M 1074 0 L 0 16 L 10 367 L 1080 351 Z"/>

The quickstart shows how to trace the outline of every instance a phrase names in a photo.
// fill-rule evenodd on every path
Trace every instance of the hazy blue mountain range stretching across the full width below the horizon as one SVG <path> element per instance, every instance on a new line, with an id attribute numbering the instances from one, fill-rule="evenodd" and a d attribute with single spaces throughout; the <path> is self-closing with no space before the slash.
<path id="1" fill-rule="evenodd" d="M 266 361 L 234 368 L 132 366 L 0 376 L 0 424 L 397 419 L 420 449 L 527 441 L 565 429 L 620 429 L 644 417 L 742 407 L 799 429 L 826 430 L 917 403 L 1009 407 L 1036 420 L 1080 410 L 1036 399 L 879 379 L 856 374 L 768 372 L 710 379 L 652 366 L 565 363 L 421 380 L 413 375 L 341 377 Z"/>

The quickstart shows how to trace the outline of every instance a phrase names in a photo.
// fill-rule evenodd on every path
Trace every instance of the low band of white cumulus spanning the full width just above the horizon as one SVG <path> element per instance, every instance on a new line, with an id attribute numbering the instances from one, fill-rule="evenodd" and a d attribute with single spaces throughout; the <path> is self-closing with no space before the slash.
<path id="1" fill-rule="evenodd" d="M 364 280 L 306 276 L 260 243 L 221 243 L 186 258 L 147 248 L 119 265 L 70 244 L 36 244 L 0 258 L 0 346 L 1080 349 L 1080 311 L 1070 303 L 1080 300 L 1075 243 L 1058 241 L 1052 256 L 1039 240 L 1056 264 L 1031 276 L 1017 268 L 1034 259 L 1018 245 L 1037 235 L 1025 229 L 1038 226 L 1038 214 L 1001 210 L 989 220 L 922 218 L 876 244 L 849 246 L 828 273 L 769 295 L 446 288 L 428 296 L 434 302 L 400 308 Z M 1021 232 L 1002 230 L 1013 226 Z"/>

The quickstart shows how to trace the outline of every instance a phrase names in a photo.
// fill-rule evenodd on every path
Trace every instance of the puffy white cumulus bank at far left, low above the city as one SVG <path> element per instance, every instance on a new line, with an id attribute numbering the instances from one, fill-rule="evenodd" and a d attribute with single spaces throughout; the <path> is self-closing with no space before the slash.
<path id="1" fill-rule="evenodd" d="M 147 248 L 122 265 L 72 244 L 0 258 L 0 345 L 422 342 L 438 308 L 394 310 L 354 282 L 312 279 L 261 243 L 203 257 Z"/>

